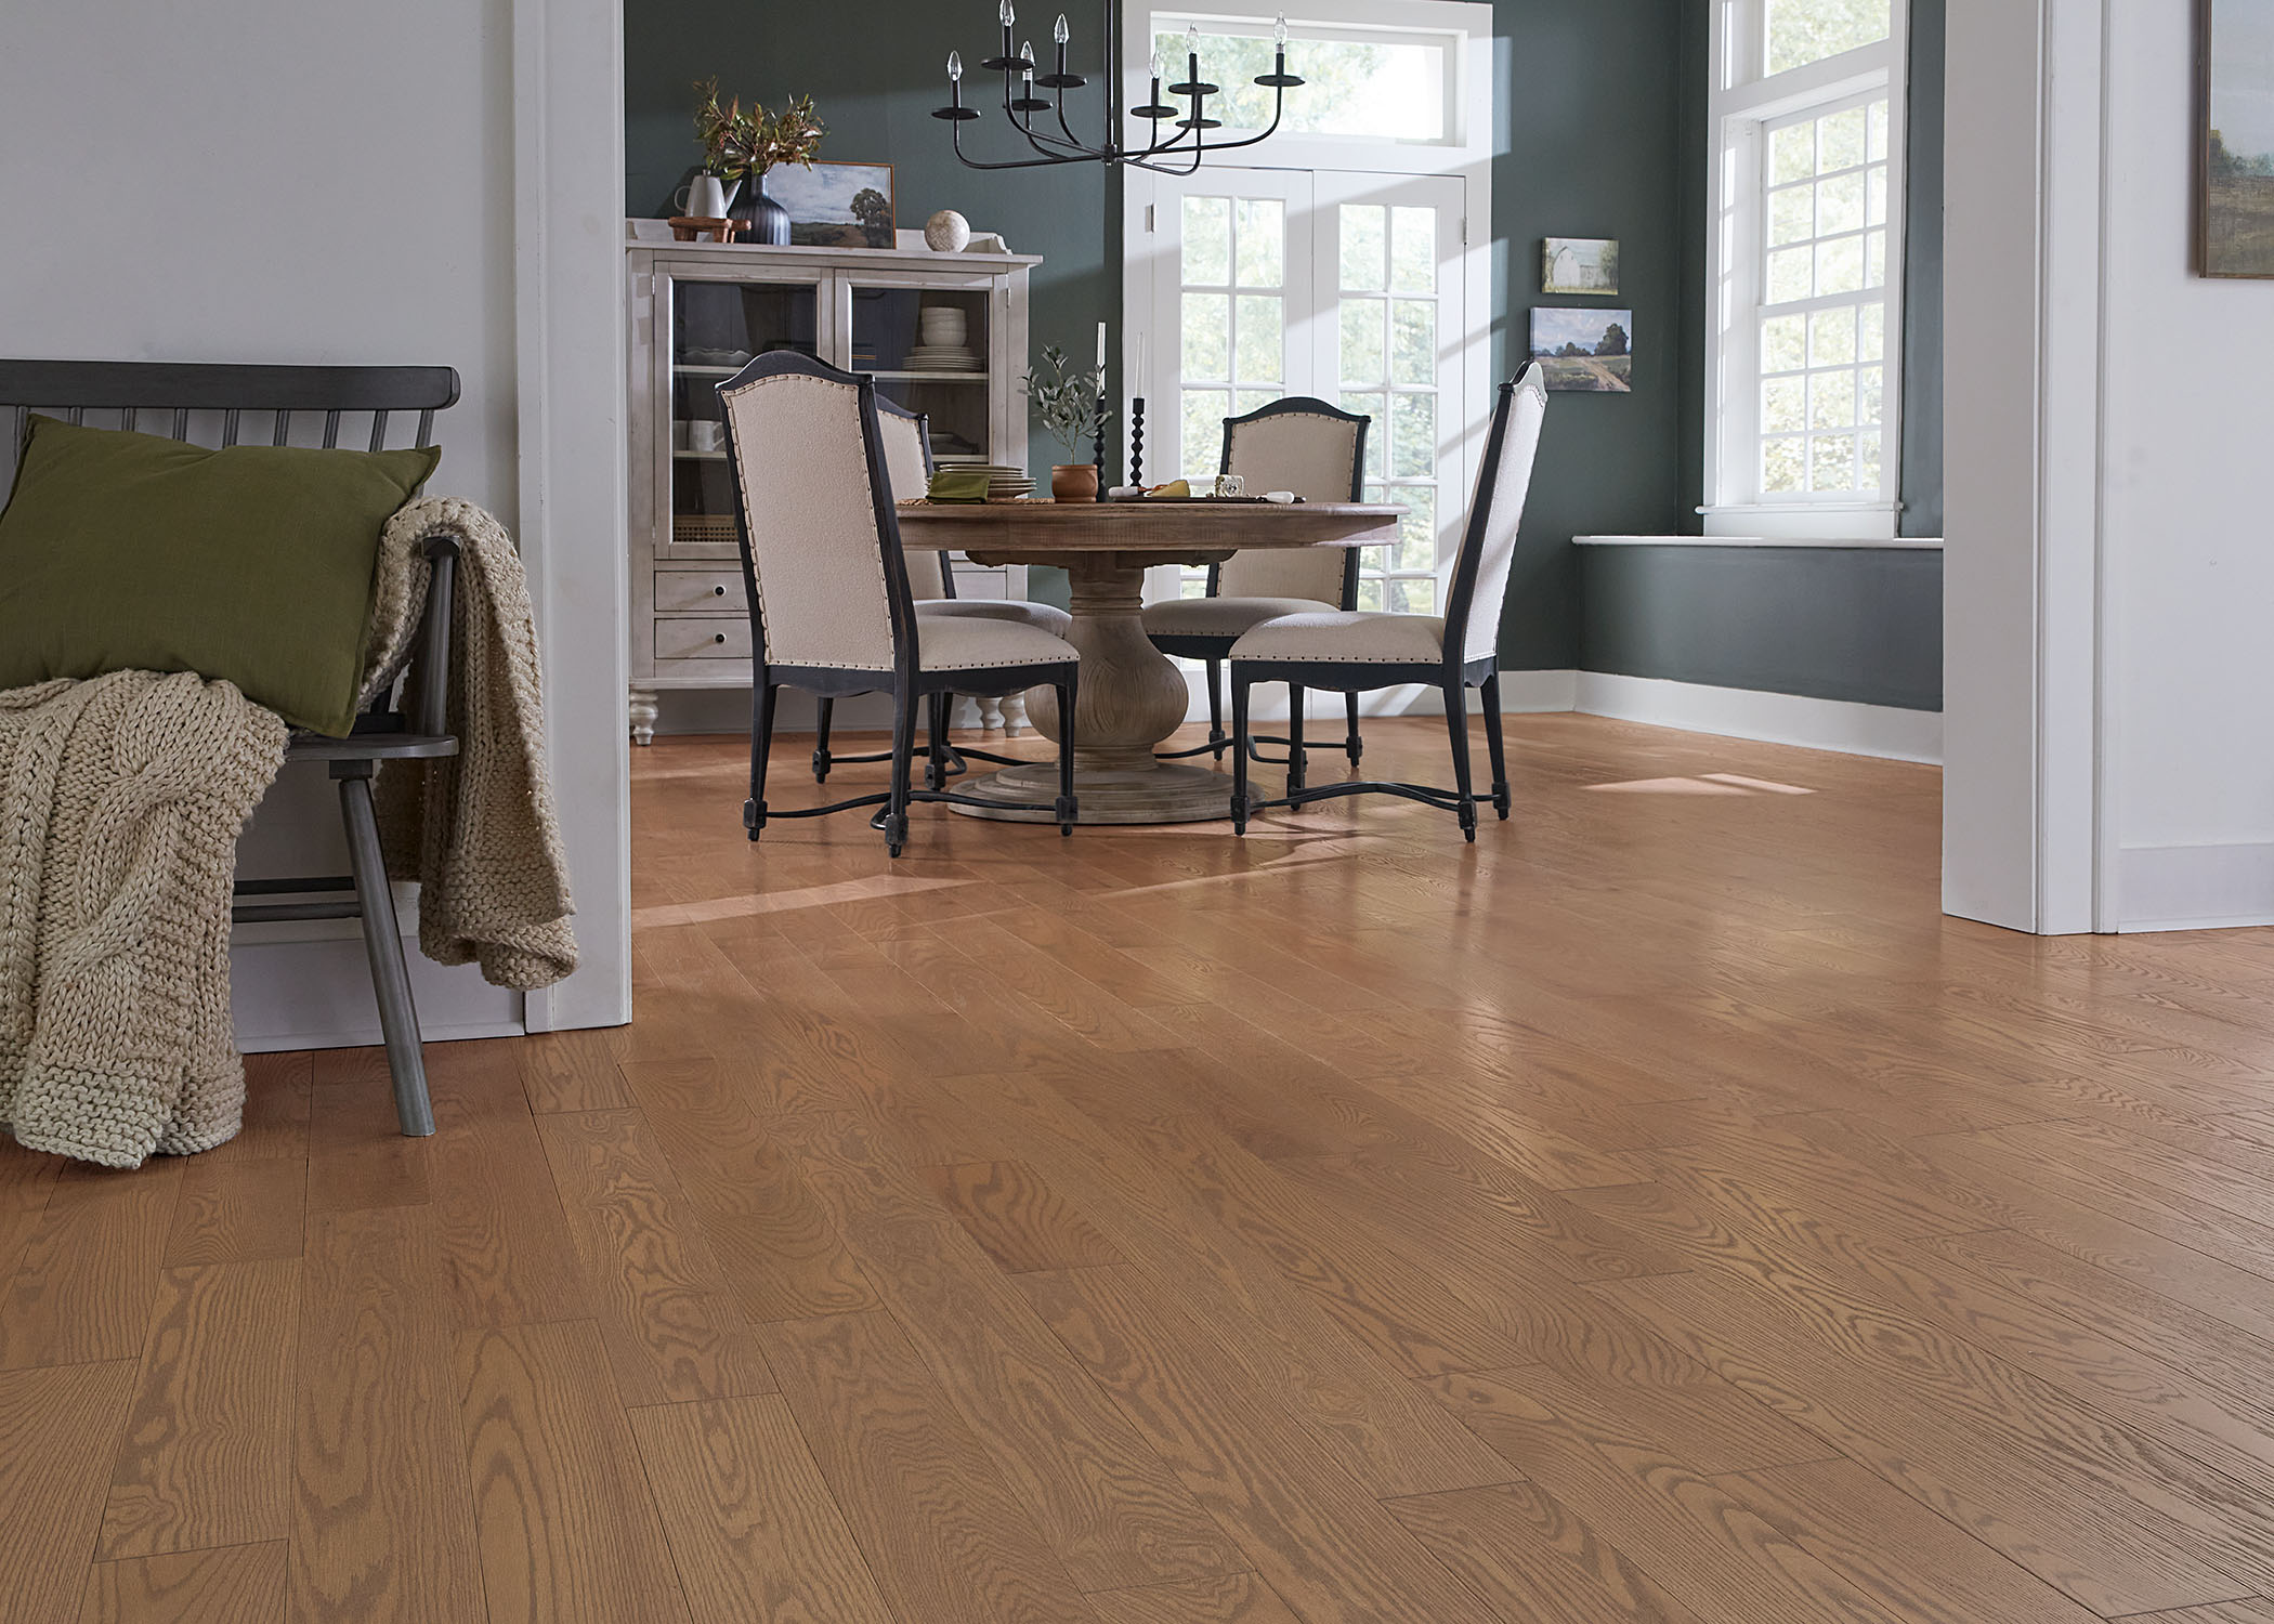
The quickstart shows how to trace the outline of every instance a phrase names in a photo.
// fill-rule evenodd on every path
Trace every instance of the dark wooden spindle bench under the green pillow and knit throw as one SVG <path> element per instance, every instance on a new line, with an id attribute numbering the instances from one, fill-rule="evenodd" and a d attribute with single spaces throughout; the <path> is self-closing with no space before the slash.
<path id="1" fill-rule="evenodd" d="M 116 414 L 123 430 L 166 434 L 189 444 L 239 446 L 266 430 L 271 446 L 343 444 L 362 439 L 384 450 L 389 421 L 393 439 L 434 444 L 434 414 L 457 405 L 457 368 L 450 366 L 259 366 L 205 362 L 0 362 L 0 409 L 11 412 L 0 475 L 23 455 L 30 412 L 61 412 L 86 423 L 89 412 Z M 298 419 L 298 425 L 296 425 Z M 98 423 L 109 428 L 111 423 Z M 321 439 L 318 439 L 321 425 Z M 405 434 L 409 428 L 409 434 Z M 459 544 L 434 537 L 425 544 L 428 594 L 412 639 L 409 682 L 387 685 L 355 719 L 343 739 L 293 730 L 287 762 L 323 762 L 339 785 L 339 817 L 346 830 L 348 873 L 323 878 L 236 880 L 236 923 L 298 923 L 312 919 L 357 919 L 364 958 L 380 1005 L 380 1037 L 396 1094 L 396 1124 L 405 1135 L 434 1133 L 428 1099 L 418 1005 L 412 999 L 409 964 L 393 889 L 380 855 L 380 826 L 371 782 L 382 762 L 421 762 L 457 755 L 450 732 L 453 594 Z M 296 901 L 293 901 L 296 898 Z"/>

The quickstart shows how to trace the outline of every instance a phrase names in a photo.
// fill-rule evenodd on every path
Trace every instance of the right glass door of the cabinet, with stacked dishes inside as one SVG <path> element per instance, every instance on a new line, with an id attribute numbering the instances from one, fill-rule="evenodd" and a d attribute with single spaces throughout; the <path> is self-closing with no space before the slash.
<path id="1" fill-rule="evenodd" d="M 853 284 L 850 300 L 853 371 L 873 373 L 880 396 L 930 419 L 932 462 L 996 459 L 987 289 Z"/>

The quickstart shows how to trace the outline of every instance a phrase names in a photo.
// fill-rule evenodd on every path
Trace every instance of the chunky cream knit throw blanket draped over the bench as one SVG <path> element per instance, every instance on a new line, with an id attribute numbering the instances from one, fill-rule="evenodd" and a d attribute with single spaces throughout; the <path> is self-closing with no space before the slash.
<path id="1" fill-rule="evenodd" d="M 389 867 L 423 883 L 430 958 L 543 987 L 575 969 L 575 942 L 537 637 L 512 537 L 480 507 L 421 500 L 387 525 L 366 698 L 409 657 L 437 532 L 464 544 L 462 755 L 380 773 Z M 236 835 L 284 744 L 280 716 L 186 673 L 0 691 L 0 1121 L 20 1144 L 136 1167 L 236 1135 Z"/>

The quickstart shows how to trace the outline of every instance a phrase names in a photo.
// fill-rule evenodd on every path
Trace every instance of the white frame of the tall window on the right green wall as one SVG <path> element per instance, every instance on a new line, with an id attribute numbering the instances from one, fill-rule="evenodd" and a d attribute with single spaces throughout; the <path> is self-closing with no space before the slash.
<path id="1" fill-rule="evenodd" d="M 1767 0 L 1712 7 L 1706 209 L 1706 516 L 1708 537 L 1892 541 L 1903 487 L 1903 239 L 1910 0 L 1892 0 L 1885 41 L 1769 75 Z M 1881 489 L 1760 489 L 1760 307 L 1767 273 L 1767 141 L 1771 123 L 1887 98 L 1887 341 L 1881 398 Z"/>

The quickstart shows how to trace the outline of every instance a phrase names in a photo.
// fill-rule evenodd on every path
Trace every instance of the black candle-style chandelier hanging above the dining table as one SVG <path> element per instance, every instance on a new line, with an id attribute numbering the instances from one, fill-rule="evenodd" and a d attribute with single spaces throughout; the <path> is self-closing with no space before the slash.
<path id="1" fill-rule="evenodd" d="M 948 127 L 955 132 L 955 157 L 964 161 L 966 168 L 1046 168 L 1053 164 L 1130 164 L 1135 168 L 1151 168 L 1160 175 L 1192 175 L 1201 168 L 1201 159 L 1207 152 L 1237 152 L 1244 146 L 1255 146 L 1269 141 L 1280 125 L 1280 114 L 1287 105 L 1287 91 L 1298 86 L 1303 80 L 1287 73 L 1287 18 L 1280 16 L 1271 30 L 1276 43 L 1276 64 L 1271 73 L 1260 75 L 1255 82 L 1271 91 L 1271 127 L 1262 134 L 1246 136 L 1244 141 L 1219 141 L 1210 143 L 1207 132 L 1221 130 L 1221 118 L 1207 116 L 1207 98 L 1221 96 L 1221 86 L 1207 84 L 1201 77 L 1201 25 L 1194 23 L 1185 32 L 1185 82 L 1171 84 L 1169 96 L 1187 98 L 1189 107 L 1171 107 L 1162 102 L 1162 80 L 1167 77 L 1167 64 L 1160 52 L 1153 52 L 1153 98 L 1144 107 L 1132 107 L 1132 118 L 1146 118 L 1151 123 L 1151 134 L 1146 146 L 1123 146 L 1121 141 L 1121 5 L 1119 0 L 1105 0 L 1105 136 L 1101 143 L 1092 146 L 1073 134 L 1073 125 L 1067 123 L 1067 91 L 1082 89 L 1089 80 L 1078 73 L 1067 73 L 1067 41 L 1073 32 L 1067 27 L 1067 16 L 1057 16 L 1057 27 L 1051 36 L 1057 41 L 1057 71 L 1035 73 L 1035 48 L 1021 45 L 1019 55 L 1012 55 L 1010 30 L 1019 20 L 1012 9 L 1012 0 L 1003 0 L 998 14 L 1003 20 L 1003 55 L 989 57 L 980 64 L 987 73 L 1003 75 L 1003 116 L 1010 118 L 1012 130 L 1026 136 L 1028 146 L 1035 148 L 1037 157 L 1014 157 L 1001 161 L 982 161 L 964 152 L 964 125 L 980 116 L 976 107 L 964 107 L 964 57 L 962 52 L 948 52 L 948 96 L 951 102 L 932 111 L 932 118 L 946 118 Z M 1053 91 L 1055 96 L 1037 96 L 1037 89 Z M 1057 121 L 1057 130 L 1048 130 L 1035 123 L 1035 114 L 1051 114 Z M 1185 114 L 1178 118 L 1178 114 Z M 1162 141 L 1162 123 L 1176 118 L 1176 134 Z"/>

